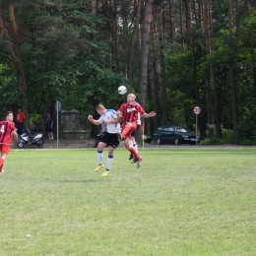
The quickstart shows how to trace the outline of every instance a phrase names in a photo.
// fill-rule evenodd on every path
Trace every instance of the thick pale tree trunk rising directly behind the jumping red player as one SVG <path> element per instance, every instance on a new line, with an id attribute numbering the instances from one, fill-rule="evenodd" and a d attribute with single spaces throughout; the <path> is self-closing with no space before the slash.
<path id="1" fill-rule="evenodd" d="M 150 43 L 150 28 L 152 21 L 152 9 L 154 0 L 148 0 L 145 8 L 145 16 L 143 22 L 142 49 L 141 49 L 141 73 L 140 73 L 140 100 L 139 102 L 145 108 L 146 88 L 148 79 L 148 53 Z"/>

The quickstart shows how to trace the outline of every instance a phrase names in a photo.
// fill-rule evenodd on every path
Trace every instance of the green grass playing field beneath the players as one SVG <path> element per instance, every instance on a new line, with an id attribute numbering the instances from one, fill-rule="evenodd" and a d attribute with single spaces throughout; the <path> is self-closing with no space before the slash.
<path id="1" fill-rule="evenodd" d="M 0 255 L 256 255 L 256 150 L 12 151 Z M 104 163 L 107 152 L 104 151 Z"/>

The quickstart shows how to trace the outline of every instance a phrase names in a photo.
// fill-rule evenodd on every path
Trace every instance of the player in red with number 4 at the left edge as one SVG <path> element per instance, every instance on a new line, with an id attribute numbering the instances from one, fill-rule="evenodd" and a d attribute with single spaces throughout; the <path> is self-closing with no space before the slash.
<path id="1" fill-rule="evenodd" d="M 0 175 L 4 172 L 3 165 L 12 146 L 12 138 L 18 141 L 17 128 L 13 122 L 14 115 L 12 111 L 7 111 L 5 121 L 0 122 Z"/>

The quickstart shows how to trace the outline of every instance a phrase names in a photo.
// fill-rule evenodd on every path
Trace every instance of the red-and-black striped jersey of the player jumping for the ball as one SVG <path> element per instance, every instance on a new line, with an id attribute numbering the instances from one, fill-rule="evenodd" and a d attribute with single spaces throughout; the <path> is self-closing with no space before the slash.
<path id="1" fill-rule="evenodd" d="M 138 113 L 140 113 L 140 116 L 145 114 L 144 109 L 138 102 L 123 103 L 117 111 L 120 111 L 122 113 L 122 124 L 125 124 L 127 122 L 137 123 L 139 118 Z"/>

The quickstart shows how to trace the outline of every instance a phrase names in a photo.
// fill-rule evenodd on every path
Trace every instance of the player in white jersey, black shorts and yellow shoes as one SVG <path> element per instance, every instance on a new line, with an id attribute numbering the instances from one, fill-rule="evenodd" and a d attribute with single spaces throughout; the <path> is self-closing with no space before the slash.
<path id="1" fill-rule="evenodd" d="M 113 109 L 106 109 L 102 104 L 98 104 L 96 106 L 96 112 L 100 115 L 100 117 L 95 120 L 93 115 L 88 116 L 88 120 L 91 121 L 95 125 L 100 125 L 105 123 L 105 121 L 115 120 L 117 118 L 116 111 Z M 107 177 L 110 171 L 110 167 L 114 158 L 114 150 L 118 147 L 118 134 L 121 132 L 121 127 L 119 123 L 109 123 L 106 124 L 106 131 L 102 138 L 100 139 L 97 145 L 97 160 L 98 166 L 96 167 L 96 171 L 99 171 L 103 168 L 103 149 L 106 145 L 108 148 L 108 158 L 106 162 L 106 171 L 102 174 L 103 177 Z"/>

